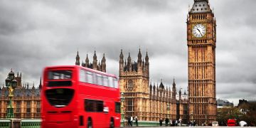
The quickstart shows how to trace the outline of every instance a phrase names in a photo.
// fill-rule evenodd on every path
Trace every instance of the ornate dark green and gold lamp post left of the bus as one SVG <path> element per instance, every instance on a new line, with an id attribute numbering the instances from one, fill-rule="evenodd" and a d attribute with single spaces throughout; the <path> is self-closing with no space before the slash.
<path id="1" fill-rule="evenodd" d="M 14 97 L 14 89 L 17 87 L 17 81 L 14 79 L 14 72 L 11 70 L 11 72 L 8 75 L 8 78 L 6 78 L 6 87 L 9 90 L 8 97 L 10 98 L 9 106 L 7 107 L 7 116 L 6 118 L 14 118 L 14 107 L 12 106 L 11 98 Z"/>

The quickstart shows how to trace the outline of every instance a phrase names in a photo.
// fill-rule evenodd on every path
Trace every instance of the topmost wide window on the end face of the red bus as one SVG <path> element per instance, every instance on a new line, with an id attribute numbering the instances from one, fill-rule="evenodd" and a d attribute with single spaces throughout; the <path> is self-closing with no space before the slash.
<path id="1" fill-rule="evenodd" d="M 72 71 L 71 70 L 52 70 L 48 72 L 48 80 L 63 80 L 71 79 Z"/>

